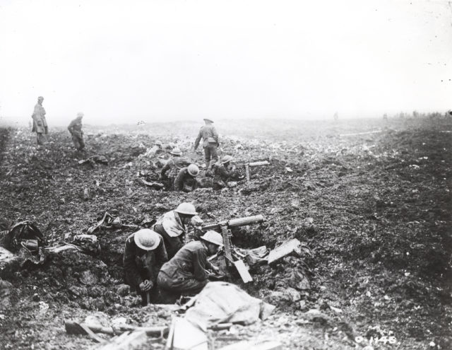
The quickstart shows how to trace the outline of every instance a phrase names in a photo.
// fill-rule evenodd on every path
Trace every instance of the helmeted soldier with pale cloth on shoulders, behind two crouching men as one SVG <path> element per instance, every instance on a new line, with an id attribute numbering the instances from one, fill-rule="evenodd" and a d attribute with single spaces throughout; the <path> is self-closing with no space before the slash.
<path id="1" fill-rule="evenodd" d="M 153 230 L 162 236 L 169 259 L 184 245 L 187 226 L 196 214 L 193 204 L 181 203 L 157 219 Z"/>

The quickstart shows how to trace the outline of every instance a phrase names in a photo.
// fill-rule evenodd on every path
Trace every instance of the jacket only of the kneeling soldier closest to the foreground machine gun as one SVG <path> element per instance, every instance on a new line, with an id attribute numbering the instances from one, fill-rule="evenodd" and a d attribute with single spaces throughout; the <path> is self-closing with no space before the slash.
<path id="1" fill-rule="evenodd" d="M 206 268 L 210 268 L 207 261 L 208 249 L 200 240 L 187 243 L 174 257 L 162 266 L 160 273 L 169 279 L 196 279 L 205 281 L 208 277 Z"/>

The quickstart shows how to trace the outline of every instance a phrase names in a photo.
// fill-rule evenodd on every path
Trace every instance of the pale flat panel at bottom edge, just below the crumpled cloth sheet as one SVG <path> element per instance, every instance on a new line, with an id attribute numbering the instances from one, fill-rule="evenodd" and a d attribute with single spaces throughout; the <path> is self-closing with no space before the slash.
<path id="1" fill-rule="evenodd" d="M 174 317 L 166 349 L 208 350 L 208 339 L 201 329 L 182 317 Z"/>

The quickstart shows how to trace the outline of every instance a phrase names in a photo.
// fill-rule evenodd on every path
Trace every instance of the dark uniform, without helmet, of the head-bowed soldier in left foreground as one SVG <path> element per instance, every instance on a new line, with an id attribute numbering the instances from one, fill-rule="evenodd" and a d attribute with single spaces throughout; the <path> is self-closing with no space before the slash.
<path id="1" fill-rule="evenodd" d="M 123 259 L 124 272 L 127 284 L 141 295 L 144 303 L 146 293 L 143 293 L 139 286 L 145 279 L 153 281 L 154 286 L 150 290 L 150 294 L 151 298 L 155 299 L 158 294 L 157 275 L 162 264 L 168 261 L 168 255 L 160 235 L 160 244 L 155 250 L 143 250 L 138 247 L 135 243 L 134 235 L 135 233 L 132 233 L 126 240 Z"/>

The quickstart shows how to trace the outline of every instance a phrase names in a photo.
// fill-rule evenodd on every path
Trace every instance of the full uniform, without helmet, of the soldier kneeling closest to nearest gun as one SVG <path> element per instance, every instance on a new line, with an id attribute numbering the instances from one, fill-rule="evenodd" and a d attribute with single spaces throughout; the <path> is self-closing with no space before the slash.
<path id="1" fill-rule="evenodd" d="M 195 240 L 184 245 L 160 269 L 157 278 L 159 288 L 182 294 L 199 293 L 208 283 L 206 268 L 211 268 L 211 264 L 207 257 L 208 249 L 202 241 Z"/>

